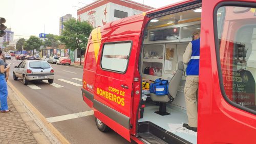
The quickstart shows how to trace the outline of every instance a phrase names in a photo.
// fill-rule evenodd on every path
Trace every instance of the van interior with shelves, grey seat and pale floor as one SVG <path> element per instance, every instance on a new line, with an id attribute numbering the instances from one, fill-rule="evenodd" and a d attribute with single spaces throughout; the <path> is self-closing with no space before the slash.
<path id="1" fill-rule="evenodd" d="M 188 123 L 184 98 L 186 65 L 182 63 L 182 56 L 193 33 L 200 29 L 200 7 L 156 17 L 147 24 L 140 59 L 142 79 L 168 80 L 172 97 L 142 94 L 146 99 L 141 100 L 138 135 L 146 141 L 169 143 L 168 138 L 179 137 L 180 142 L 197 143 L 196 132 L 173 129 Z"/>

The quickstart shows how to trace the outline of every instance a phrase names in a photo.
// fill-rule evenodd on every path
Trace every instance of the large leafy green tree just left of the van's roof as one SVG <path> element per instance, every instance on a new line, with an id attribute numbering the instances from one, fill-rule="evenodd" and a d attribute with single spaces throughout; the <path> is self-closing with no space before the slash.
<path id="1" fill-rule="evenodd" d="M 81 65 L 81 49 L 85 50 L 87 41 L 93 27 L 87 21 L 79 21 L 73 18 L 63 23 L 64 30 L 59 39 L 72 51 L 78 50 Z"/>

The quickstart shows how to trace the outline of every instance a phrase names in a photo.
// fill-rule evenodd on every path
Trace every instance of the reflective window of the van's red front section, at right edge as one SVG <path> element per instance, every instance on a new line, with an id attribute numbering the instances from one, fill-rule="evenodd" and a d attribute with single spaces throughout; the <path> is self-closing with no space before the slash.
<path id="1" fill-rule="evenodd" d="M 240 109 L 256 113 L 255 8 L 220 7 L 216 15 L 216 43 L 224 98 Z"/>

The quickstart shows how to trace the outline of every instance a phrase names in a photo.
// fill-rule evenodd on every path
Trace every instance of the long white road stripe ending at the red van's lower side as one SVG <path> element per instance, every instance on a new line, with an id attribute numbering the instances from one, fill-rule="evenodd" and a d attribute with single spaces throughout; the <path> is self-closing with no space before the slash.
<path id="1" fill-rule="evenodd" d="M 60 115 L 60 116 L 55 116 L 55 117 L 49 117 L 49 118 L 46 118 L 46 119 L 49 123 L 54 123 L 54 122 L 66 121 L 68 119 L 74 119 L 74 118 L 89 116 L 89 115 L 93 115 L 93 114 L 94 114 L 93 110 L 89 110 L 89 111 L 84 111 L 84 112 L 78 112 L 78 113 Z"/>

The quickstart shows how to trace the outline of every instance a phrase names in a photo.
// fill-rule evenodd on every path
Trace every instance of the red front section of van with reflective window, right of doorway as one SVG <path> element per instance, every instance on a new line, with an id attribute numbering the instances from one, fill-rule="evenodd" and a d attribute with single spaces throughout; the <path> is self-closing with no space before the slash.
<path id="1" fill-rule="evenodd" d="M 256 143 L 255 1 L 202 1 L 198 143 Z"/>

